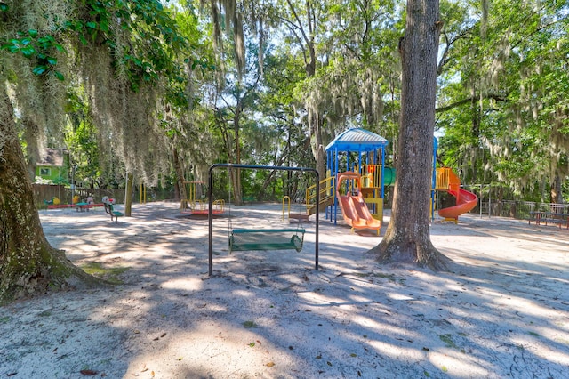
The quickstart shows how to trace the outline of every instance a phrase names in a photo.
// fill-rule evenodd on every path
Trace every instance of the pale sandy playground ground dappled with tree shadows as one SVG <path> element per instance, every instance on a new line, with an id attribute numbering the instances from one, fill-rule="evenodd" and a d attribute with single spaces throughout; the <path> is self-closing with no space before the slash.
<path id="1" fill-rule="evenodd" d="M 454 263 L 432 272 L 380 266 L 365 251 L 381 237 L 321 220 L 314 270 L 314 218 L 301 253 L 228 254 L 229 227 L 296 228 L 276 205 L 230 212 L 211 278 L 207 219 L 175 203 L 118 223 L 40 212 L 53 246 L 121 284 L 0 308 L 0 378 L 569 377 L 568 230 L 437 221 Z"/>

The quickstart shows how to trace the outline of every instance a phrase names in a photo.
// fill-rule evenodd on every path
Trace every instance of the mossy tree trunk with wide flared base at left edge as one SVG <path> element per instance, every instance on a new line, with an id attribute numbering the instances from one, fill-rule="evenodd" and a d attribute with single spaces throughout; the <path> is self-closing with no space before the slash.
<path id="1" fill-rule="evenodd" d="M 0 304 L 48 288 L 95 283 L 45 239 L 12 104 L 0 91 Z"/>

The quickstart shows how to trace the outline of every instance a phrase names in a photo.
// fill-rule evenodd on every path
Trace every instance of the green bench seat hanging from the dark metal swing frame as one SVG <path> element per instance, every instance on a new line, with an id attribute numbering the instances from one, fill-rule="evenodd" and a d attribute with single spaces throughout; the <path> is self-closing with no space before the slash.
<path id="1" fill-rule="evenodd" d="M 304 242 L 304 232 L 304 229 L 234 229 L 229 236 L 229 253 L 292 249 L 300 252 Z"/>

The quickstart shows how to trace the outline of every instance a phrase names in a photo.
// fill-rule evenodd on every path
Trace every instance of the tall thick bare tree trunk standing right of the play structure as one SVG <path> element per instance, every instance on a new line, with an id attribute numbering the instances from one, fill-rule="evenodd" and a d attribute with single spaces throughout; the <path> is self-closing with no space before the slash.
<path id="1" fill-rule="evenodd" d="M 435 128 L 437 49 L 441 21 L 438 0 L 408 0 L 401 117 L 391 220 L 380 245 L 379 262 L 413 262 L 444 270 L 448 258 L 430 242 L 429 196 Z"/>

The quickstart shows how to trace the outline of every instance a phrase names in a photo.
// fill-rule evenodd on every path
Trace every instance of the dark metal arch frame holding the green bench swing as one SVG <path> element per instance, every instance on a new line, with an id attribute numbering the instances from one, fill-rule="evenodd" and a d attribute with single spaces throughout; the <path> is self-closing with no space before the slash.
<path id="1" fill-rule="evenodd" d="M 213 275 L 213 214 L 212 214 L 212 188 L 213 188 L 213 170 L 216 168 L 244 168 L 244 169 L 251 169 L 251 170 L 279 170 L 279 171 L 300 171 L 300 172 L 308 172 L 314 173 L 316 176 L 317 182 L 317 199 L 316 199 L 316 227 L 315 227 L 315 246 L 314 246 L 314 267 L 315 270 L 318 270 L 318 215 L 319 209 L 318 205 L 320 203 L 319 194 L 320 194 L 320 175 L 318 174 L 317 170 L 314 168 L 306 168 L 306 167 L 286 167 L 286 166 L 276 166 L 276 165 L 236 165 L 232 163 L 226 164 L 215 164 L 211 165 L 209 169 L 209 185 L 207 189 L 207 198 L 209 199 L 209 212 L 208 212 L 208 234 L 209 234 L 209 276 Z M 236 230 L 233 230 L 235 232 Z M 260 231 L 260 230 L 258 230 Z M 270 230 L 263 230 L 265 232 Z M 282 229 L 278 230 L 279 232 L 283 231 Z M 244 231 L 238 231 L 238 233 L 243 233 Z M 251 231 L 249 231 L 251 232 Z M 302 235 L 304 235 L 304 230 L 302 230 Z M 294 236 L 293 236 L 294 238 Z M 298 237 L 297 237 L 298 238 Z M 304 238 L 302 238 L 304 239 Z M 292 239 L 293 241 L 293 239 Z M 293 242 L 292 242 L 293 243 Z M 254 249 L 242 249 L 242 250 L 254 250 Z"/>

